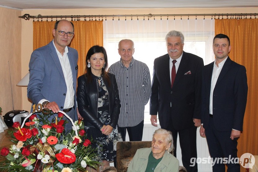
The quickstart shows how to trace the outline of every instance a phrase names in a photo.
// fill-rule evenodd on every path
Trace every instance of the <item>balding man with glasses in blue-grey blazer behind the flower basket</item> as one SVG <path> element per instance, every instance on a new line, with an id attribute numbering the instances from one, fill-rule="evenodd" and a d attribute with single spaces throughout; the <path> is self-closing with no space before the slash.
<path id="1" fill-rule="evenodd" d="M 54 113 L 64 111 L 75 121 L 78 120 L 78 52 L 68 47 L 74 35 L 73 24 L 68 20 L 59 20 L 52 33 L 54 39 L 46 46 L 34 50 L 31 55 L 27 96 L 33 104 L 42 104 L 43 108 L 49 108 Z M 65 125 L 65 131 L 71 129 L 72 124 L 69 122 Z"/>

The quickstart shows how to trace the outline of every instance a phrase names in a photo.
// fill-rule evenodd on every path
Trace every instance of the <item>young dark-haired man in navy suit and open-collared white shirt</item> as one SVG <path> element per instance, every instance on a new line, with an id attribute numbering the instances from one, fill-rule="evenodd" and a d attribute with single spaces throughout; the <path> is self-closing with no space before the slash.
<path id="1" fill-rule="evenodd" d="M 230 60 L 230 50 L 229 37 L 216 35 L 213 39 L 215 61 L 204 66 L 202 73 L 200 135 L 206 137 L 213 161 L 237 157 L 237 140 L 243 129 L 248 89 L 246 68 Z M 227 166 L 227 171 L 240 171 L 240 165 L 234 161 Z M 225 172 L 223 163 L 216 162 L 212 168 Z"/>

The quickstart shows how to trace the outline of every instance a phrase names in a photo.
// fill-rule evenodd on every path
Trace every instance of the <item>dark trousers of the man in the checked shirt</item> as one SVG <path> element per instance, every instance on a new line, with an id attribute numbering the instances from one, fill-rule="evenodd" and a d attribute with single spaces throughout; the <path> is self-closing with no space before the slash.
<path id="1" fill-rule="evenodd" d="M 143 132 L 144 120 L 140 122 L 140 124 L 133 127 L 119 127 L 121 130 L 121 135 L 123 141 L 125 141 L 126 130 L 129 135 L 130 141 L 141 141 L 142 140 L 142 132 Z"/>

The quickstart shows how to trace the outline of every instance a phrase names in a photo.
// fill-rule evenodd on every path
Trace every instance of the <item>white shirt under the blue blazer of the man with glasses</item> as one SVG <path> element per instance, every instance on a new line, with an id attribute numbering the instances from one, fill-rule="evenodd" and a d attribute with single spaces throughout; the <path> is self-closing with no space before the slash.
<path id="1" fill-rule="evenodd" d="M 65 97 L 65 101 L 64 101 L 64 109 L 68 109 L 68 108 L 72 108 L 74 105 L 74 89 L 73 89 L 73 75 L 72 75 L 72 69 L 71 69 L 71 65 L 68 59 L 68 48 L 67 46 L 64 49 L 64 55 L 62 55 L 56 48 L 54 40 L 53 40 L 53 45 L 56 49 L 56 53 L 58 55 L 63 73 L 64 73 L 64 80 L 65 80 L 65 84 L 66 84 L 66 97 Z M 59 84 L 59 83 L 56 83 Z M 48 101 L 46 99 L 42 99 L 40 100 L 38 103 L 42 104 L 44 101 Z"/>

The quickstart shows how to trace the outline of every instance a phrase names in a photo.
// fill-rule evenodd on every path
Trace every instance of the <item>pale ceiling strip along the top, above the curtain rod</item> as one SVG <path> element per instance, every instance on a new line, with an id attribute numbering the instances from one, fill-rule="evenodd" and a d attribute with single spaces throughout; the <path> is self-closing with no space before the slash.
<path id="1" fill-rule="evenodd" d="M 258 0 L 0 0 L 17 9 L 258 7 Z"/>

